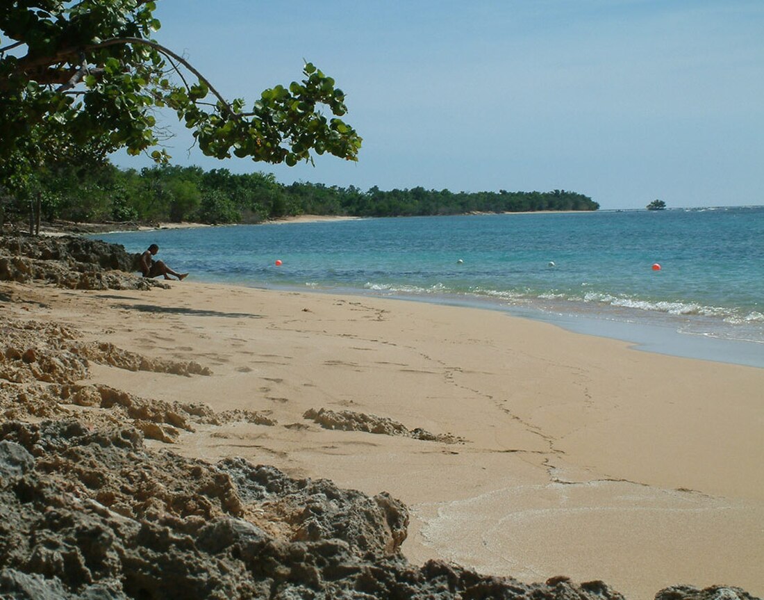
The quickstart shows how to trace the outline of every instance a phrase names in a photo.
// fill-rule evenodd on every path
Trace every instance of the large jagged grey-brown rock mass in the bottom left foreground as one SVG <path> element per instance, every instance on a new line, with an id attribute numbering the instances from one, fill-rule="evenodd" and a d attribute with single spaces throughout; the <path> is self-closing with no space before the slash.
<path id="1" fill-rule="evenodd" d="M 387 494 L 149 452 L 131 428 L 0 424 L 0 507 L 3 598 L 621 598 L 411 565 Z"/>

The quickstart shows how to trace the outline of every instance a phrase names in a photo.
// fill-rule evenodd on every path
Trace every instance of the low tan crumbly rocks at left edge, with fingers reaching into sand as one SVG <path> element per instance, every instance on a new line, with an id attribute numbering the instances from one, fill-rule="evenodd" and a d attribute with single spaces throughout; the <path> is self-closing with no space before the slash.
<path id="1" fill-rule="evenodd" d="M 199 363 L 148 358 L 113 344 L 85 342 L 79 332 L 50 323 L 0 317 L 0 331 L 0 414 L 6 419 L 72 417 L 67 406 L 95 407 L 108 414 L 89 412 L 80 420 L 91 424 L 130 420 L 147 438 L 165 443 L 175 442 L 182 430 L 193 431 L 194 424 L 276 424 L 255 410 L 215 413 L 205 404 L 157 401 L 107 385 L 77 383 L 89 378 L 90 361 L 130 371 L 211 375 Z"/>

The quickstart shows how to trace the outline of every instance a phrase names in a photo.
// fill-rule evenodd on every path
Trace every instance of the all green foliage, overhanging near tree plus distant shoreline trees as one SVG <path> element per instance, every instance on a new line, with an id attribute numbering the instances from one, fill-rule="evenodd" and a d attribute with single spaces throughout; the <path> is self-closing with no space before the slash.
<path id="1" fill-rule="evenodd" d="M 95 221 L 258 222 L 273 217 L 399 216 L 597 209 L 586 196 L 549 193 L 362 192 L 272 175 L 170 167 L 154 115 L 170 109 L 206 155 L 287 165 L 312 152 L 355 161 L 358 134 L 337 118 L 345 95 L 306 63 L 303 79 L 274 86 L 244 109 L 184 57 L 152 39 L 149 0 L 0 2 L 0 225 L 7 217 Z M 322 110 L 334 115 L 327 118 Z M 118 170 L 119 148 L 160 166 Z"/>

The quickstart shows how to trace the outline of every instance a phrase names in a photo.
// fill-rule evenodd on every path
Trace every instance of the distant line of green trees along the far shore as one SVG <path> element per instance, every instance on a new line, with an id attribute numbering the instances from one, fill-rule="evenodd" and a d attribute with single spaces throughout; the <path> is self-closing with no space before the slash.
<path id="1" fill-rule="evenodd" d="M 34 175 L 27 190 L 0 197 L 7 220 L 25 219 L 33 205 L 44 221 L 204 223 L 254 223 L 300 214 L 431 216 L 599 208 L 588 196 L 565 190 L 468 193 L 374 186 L 364 192 L 321 183 L 283 185 L 273 174 L 170 165 L 121 170 L 92 160 L 48 166 Z"/>

